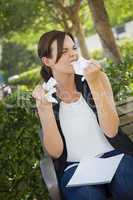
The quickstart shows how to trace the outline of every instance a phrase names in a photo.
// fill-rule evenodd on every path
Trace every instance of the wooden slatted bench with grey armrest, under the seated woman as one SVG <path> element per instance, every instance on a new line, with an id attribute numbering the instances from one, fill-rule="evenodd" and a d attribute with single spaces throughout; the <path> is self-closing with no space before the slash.
<path id="1" fill-rule="evenodd" d="M 122 130 L 128 134 L 133 141 L 133 97 L 129 97 L 124 103 L 116 103 L 116 108 L 120 117 L 120 126 Z M 40 131 L 39 134 L 41 144 L 43 144 L 42 131 Z M 40 161 L 40 169 L 42 178 L 49 191 L 49 195 L 52 200 L 65 200 L 63 197 L 61 197 L 53 161 L 43 145 L 42 147 L 44 151 L 44 157 Z M 112 200 L 112 197 L 110 197 L 109 200 Z"/>

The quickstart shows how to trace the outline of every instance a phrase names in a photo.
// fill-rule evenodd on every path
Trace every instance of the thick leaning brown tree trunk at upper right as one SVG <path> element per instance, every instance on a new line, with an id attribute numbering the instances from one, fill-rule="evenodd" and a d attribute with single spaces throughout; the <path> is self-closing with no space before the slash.
<path id="1" fill-rule="evenodd" d="M 109 24 L 103 0 L 88 0 L 96 31 L 101 39 L 104 52 L 115 63 L 121 62 L 121 55 Z"/>

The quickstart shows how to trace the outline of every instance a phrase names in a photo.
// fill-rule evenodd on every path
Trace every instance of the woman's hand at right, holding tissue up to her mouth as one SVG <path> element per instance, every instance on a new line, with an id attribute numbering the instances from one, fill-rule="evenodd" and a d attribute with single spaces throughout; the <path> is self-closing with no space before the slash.
<path id="1" fill-rule="evenodd" d="M 84 69 L 84 77 L 89 83 L 96 81 L 101 74 L 102 67 L 97 61 L 91 59 L 88 66 Z"/>

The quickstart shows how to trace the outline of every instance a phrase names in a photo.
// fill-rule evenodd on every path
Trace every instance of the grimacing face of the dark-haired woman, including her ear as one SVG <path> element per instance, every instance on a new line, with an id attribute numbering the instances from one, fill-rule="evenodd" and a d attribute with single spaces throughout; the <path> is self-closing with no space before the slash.
<path id="1" fill-rule="evenodd" d="M 77 60 L 78 51 L 76 44 L 73 42 L 70 36 L 66 35 L 63 44 L 62 56 L 56 63 L 57 59 L 57 41 L 55 40 L 51 45 L 52 53 L 52 64 L 53 70 L 57 72 L 72 74 L 74 73 L 73 66 L 71 62 Z"/>

